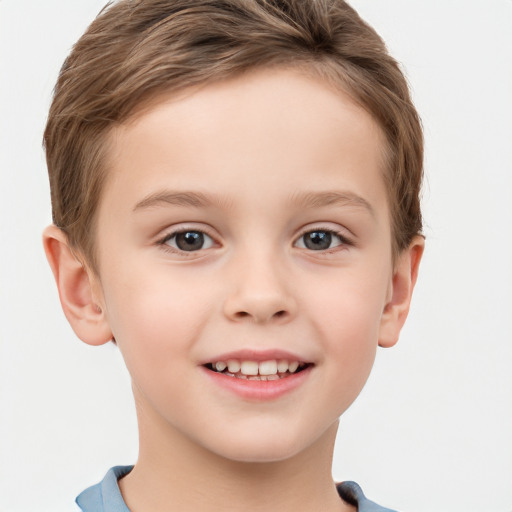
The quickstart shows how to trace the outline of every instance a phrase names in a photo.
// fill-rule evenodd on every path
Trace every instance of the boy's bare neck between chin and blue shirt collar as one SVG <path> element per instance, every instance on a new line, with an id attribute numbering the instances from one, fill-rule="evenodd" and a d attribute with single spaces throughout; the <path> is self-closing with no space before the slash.
<path id="1" fill-rule="evenodd" d="M 133 512 L 353 510 L 331 477 L 337 424 L 286 460 L 254 463 L 226 459 L 140 410 L 138 416 L 139 459 L 119 482 Z"/>

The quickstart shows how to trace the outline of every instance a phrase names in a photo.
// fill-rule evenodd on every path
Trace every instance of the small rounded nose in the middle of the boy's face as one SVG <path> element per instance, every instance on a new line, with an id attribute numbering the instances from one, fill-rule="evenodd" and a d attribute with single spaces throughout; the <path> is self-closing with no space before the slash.
<path id="1" fill-rule="evenodd" d="M 275 256 L 240 258 L 229 279 L 224 314 L 230 320 L 286 323 L 296 314 L 292 283 Z"/>

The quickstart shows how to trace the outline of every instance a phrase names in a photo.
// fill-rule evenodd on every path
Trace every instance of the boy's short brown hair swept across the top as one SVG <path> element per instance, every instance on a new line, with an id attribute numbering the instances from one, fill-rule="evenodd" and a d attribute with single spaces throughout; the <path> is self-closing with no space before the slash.
<path id="1" fill-rule="evenodd" d="M 372 114 L 388 143 L 394 254 L 421 232 L 421 123 L 397 62 L 346 2 L 120 0 L 66 59 L 44 133 L 53 221 L 92 268 L 109 130 L 157 94 L 265 66 L 307 67 Z"/>

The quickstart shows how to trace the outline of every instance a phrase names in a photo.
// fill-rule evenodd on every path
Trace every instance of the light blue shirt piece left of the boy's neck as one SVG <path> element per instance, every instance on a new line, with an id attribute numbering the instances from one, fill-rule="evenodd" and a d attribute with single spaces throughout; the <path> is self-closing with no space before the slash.
<path id="1" fill-rule="evenodd" d="M 129 512 L 118 479 L 128 474 L 133 466 L 115 466 L 108 470 L 101 482 L 78 495 L 76 504 L 83 512 Z"/>

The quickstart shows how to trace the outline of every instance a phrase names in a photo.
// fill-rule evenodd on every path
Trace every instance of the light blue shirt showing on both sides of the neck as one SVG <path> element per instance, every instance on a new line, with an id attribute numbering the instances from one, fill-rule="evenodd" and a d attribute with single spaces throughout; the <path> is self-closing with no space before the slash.
<path id="1" fill-rule="evenodd" d="M 83 512 L 130 512 L 121 496 L 117 481 L 127 475 L 133 466 L 115 466 L 105 478 L 81 493 L 76 502 Z M 358 512 L 395 512 L 370 501 L 355 482 L 337 484 L 338 493 L 347 503 L 356 505 Z"/>

